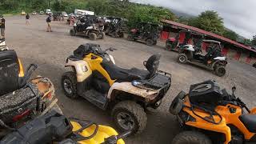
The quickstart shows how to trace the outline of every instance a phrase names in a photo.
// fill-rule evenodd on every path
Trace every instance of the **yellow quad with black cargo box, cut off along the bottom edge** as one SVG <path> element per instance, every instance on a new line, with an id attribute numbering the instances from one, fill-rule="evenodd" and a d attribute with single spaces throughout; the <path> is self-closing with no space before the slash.
<path id="1" fill-rule="evenodd" d="M 5 138 L 2 138 L 0 144 L 124 144 L 122 138 L 125 138 L 128 134 L 130 134 L 130 131 L 118 135 L 109 126 L 66 118 L 52 110 L 8 134 Z"/>

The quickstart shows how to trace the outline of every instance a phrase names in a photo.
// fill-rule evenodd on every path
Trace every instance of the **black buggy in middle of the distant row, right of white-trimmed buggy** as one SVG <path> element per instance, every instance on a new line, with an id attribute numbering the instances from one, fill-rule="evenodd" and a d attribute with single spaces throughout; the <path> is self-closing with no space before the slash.
<path id="1" fill-rule="evenodd" d="M 127 22 L 125 18 L 106 18 L 105 33 L 114 38 L 123 38 L 124 33 L 128 32 Z"/>

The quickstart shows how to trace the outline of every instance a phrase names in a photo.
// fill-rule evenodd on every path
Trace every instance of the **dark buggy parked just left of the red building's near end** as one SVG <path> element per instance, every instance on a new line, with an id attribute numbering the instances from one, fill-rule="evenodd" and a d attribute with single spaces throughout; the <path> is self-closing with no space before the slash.
<path id="1" fill-rule="evenodd" d="M 141 22 L 137 28 L 130 30 L 128 40 L 146 42 L 148 46 L 156 45 L 159 35 L 158 27 L 158 24 Z"/>

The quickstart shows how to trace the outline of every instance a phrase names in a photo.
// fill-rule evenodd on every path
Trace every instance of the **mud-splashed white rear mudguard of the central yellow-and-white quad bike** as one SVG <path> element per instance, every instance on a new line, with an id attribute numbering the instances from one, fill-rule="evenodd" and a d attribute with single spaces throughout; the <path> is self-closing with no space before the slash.
<path id="1" fill-rule="evenodd" d="M 140 99 L 147 99 L 148 101 L 154 100 L 158 96 L 159 90 L 146 90 L 135 87 L 131 82 L 114 82 L 110 87 L 110 90 L 107 94 L 107 98 L 114 99 L 117 91 L 122 91 L 127 94 L 134 95 Z"/>

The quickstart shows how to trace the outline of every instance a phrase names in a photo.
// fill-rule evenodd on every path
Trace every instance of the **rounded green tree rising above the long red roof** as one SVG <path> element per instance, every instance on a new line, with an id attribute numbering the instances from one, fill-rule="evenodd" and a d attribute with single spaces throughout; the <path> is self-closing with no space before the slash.
<path id="1" fill-rule="evenodd" d="M 188 24 L 219 35 L 222 35 L 224 31 L 223 19 L 219 17 L 216 11 L 212 10 L 206 10 L 198 17 L 191 18 Z"/>

